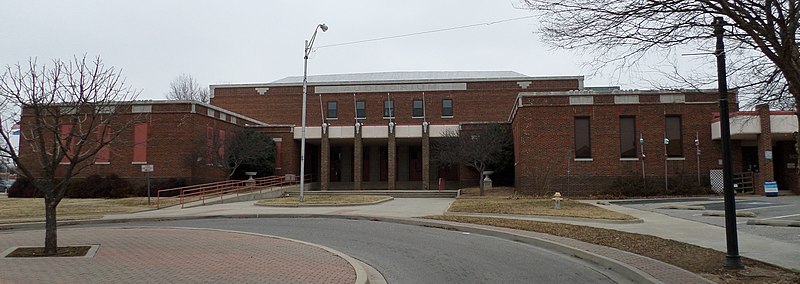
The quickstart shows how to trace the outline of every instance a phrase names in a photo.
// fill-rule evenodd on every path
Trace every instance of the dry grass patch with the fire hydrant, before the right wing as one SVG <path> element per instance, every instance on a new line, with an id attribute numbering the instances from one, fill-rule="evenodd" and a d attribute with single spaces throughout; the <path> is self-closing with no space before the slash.
<path id="1" fill-rule="evenodd" d="M 561 201 L 561 209 L 553 208 L 553 200 L 535 196 L 513 196 L 513 188 L 493 188 L 479 196 L 477 188 L 461 191 L 448 212 L 494 213 L 578 217 L 608 220 L 634 220 L 633 216 L 573 200 Z"/>

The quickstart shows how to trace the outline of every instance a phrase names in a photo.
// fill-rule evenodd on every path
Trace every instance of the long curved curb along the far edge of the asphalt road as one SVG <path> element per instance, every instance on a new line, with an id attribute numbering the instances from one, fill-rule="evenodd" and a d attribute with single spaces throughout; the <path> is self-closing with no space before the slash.
<path id="1" fill-rule="evenodd" d="M 59 226 L 70 225 L 92 225 L 92 224 L 116 224 L 128 222 L 159 222 L 159 221 L 179 221 L 179 220 L 199 220 L 199 219 L 218 219 L 218 218 L 231 218 L 231 219 L 244 219 L 244 218 L 330 218 L 330 219 L 348 219 L 348 220 L 368 220 L 368 221 L 381 221 L 391 222 L 396 224 L 405 224 L 412 226 L 434 227 L 442 229 L 454 229 L 463 232 L 482 234 L 486 236 L 498 237 L 516 242 L 533 245 L 539 248 L 547 249 L 550 251 L 562 253 L 579 258 L 584 261 L 589 261 L 600 265 L 606 269 L 612 270 L 619 275 L 633 280 L 634 283 L 663 283 L 655 277 L 635 268 L 626 263 L 573 248 L 564 244 L 554 241 L 540 239 L 536 237 L 523 236 L 514 233 L 507 233 L 502 231 L 476 228 L 466 225 L 434 222 L 427 220 L 417 219 L 401 219 L 391 217 L 372 217 L 372 216 L 357 216 L 357 215 L 324 215 L 324 214 L 239 214 L 239 215 L 206 215 L 206 216 L 181 216 L 181 217 L 157 217 L 157 218 L 131 218 L 131 219 L 103 219 L 103 220 L 86 220 L 86 221 L 65 221 L 59 222 Z M 13 230 L 13 229 L 41 229 L 44 227 L 43 223 L 28 223 L 28 224 L 11 224 L 0 225 L 0 231 Z M 680 268 L 679 268 L 680 269 Z M 699 278 L 702 278 L 698 275 Z"/>

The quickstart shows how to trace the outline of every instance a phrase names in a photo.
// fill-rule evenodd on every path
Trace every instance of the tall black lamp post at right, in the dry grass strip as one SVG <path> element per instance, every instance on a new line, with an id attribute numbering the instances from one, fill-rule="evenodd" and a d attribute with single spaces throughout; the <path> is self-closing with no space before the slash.
<path id="1" fill-rule="evenodd" d="M 733 164 L 731 163 L 731 126 L 728 114 L 728 80 L 725 72 L 725 20 L 714 18 L 714 35 L 717 37 L 717 80 L 719 81 L 719 127 L 722 134 L 722 180 L 725 196 L 725 237 L 728 251 L 725 268 L 744 268 L 739 256 L 739 239 L 736 232 L 736 200 L 733 194 Z"/>

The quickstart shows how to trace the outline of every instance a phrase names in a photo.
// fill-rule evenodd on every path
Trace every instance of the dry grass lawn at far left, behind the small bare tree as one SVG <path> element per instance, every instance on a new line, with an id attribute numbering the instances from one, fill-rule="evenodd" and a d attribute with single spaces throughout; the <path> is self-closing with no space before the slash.
<path id="1" fill-rule="evenodd" d="M 105 214 L 128 213 L 155 209 L 155 198 L 150 206 L 147 197 L 120 199 L 72 199 L 64 198 L 58 204 L 58 220 L 96 219 Z M 164 200 L 162 201 L 162 207 Z M 177 204 L 178 200 L 167 202 Z M 0 223 L 44 221 L 43 198 L 0 198 Z"/>

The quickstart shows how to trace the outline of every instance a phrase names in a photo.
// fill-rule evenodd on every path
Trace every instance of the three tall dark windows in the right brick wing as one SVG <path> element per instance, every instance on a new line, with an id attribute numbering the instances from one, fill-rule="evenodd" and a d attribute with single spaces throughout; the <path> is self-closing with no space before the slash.
<path id="1" fill-rule="evenodd" d="M 683 133 L 681 132 L 681 117 L 669 115 L 664 123 L 664 151 L 667 157 L 683 157 Z M 592 158 L 591 117 L 575 117 L 575 158 Z M 640 136 L 641 137 L 641 136 Z M 636 143 L 636 117 L 619 117 L 619 145 L 620 158 L 637 158 Z M 660 142 L 660 141 L 659 141 Z"/>

